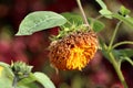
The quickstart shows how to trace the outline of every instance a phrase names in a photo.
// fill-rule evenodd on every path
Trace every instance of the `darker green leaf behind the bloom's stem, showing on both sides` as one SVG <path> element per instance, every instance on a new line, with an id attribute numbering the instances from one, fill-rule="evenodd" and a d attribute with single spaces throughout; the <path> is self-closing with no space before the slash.
<path id="1" fill-rule="evenodd" d="M 66 22 L 64 24 L 64 26 L 66 28 L 70 28 L 71 24 L 75 24 L 75 25 L 81 25 L 83 24 L 83 20 L 82 20 L 82 16 L 79 15 L 79 14 L 75 14 L 75 13 L 69 13 L 69 12 L 65 12 L 65 13 L 62 13 L 62 15 L 64 18 L 66 18 L 66 20 L 69 21 L 69 23 Z M 98 21 L 98 20 L 94 20 L 92 18 L 88 18 L 88 21 L 89 23 L 92 25 L 92 29 L 95 31 L 95 32 L 100 32 L 104 29 L 104 24 L 101 22 L 101 21 Z"/>

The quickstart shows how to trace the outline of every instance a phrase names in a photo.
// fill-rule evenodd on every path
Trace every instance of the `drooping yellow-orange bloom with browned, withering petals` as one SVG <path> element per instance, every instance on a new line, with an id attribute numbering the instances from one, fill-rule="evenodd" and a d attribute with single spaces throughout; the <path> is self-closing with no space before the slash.
<path id="1" fill-rule="evenodd" d="M 98 38 L 94 32 L 75 32 L 52 42 L 49 58 L 58 69 L 82 70 L 98 50 Z"/>

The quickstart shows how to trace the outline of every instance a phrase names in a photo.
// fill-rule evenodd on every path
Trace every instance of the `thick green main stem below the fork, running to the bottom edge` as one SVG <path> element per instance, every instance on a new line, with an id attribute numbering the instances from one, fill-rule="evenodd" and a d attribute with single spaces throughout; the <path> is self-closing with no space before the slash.
<path id="1" fill-rule="evenodd" d="M 116 59 L 114 58 L 114 56 L 113 56 L 113 54 L 112 54 L 111 52 L 109 53 L 109 56 L 110 56 L 110 61 L 112 62 L 112 65 L 113 65 L 115 72 L 116 72 L 116 74 L 117 74 L 117 76 L 119 76 L 119 79 L 120 79 L 121 82 L 123 84 L 124 88 L 127 88 L 126 81 L 125 81 L 125 79 L 124 79 L 124 76 L 123 76 L 123 74 L 122 74 L 122 72 L 121 72 L 121 68 L 120 68 Z"/>

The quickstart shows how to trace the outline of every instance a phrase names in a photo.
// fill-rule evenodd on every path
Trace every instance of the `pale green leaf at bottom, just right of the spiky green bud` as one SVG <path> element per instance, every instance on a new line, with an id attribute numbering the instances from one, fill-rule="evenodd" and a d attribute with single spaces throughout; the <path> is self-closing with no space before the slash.
<path id="1" fill-rule="evenodd" d="M 40 82 L 44 88 L 55 88 L 55 86 L 47 75 L 42 73 L 34 73 L 33 75 L 35 76 L 37 81 Z"/>

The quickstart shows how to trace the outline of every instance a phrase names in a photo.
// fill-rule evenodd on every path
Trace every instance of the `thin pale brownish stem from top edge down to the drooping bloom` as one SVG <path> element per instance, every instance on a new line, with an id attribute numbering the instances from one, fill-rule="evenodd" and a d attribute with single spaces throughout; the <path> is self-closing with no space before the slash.
<path id="1" fill-rule="evenodd" d="M 80 11 L 81 11 L 81 13 L 82 13 L 82 18 L 83 18 L 83 20 L 84 20 L 84 23 L 89 26 L 89 30 L 91 30 L 91 26 L 90 26 L 90 24 L 89 24 L 89 22 L 88 22 L 85 12 L 84 12 L 84 10 L 83 10 L 83 8 L 82 8 L 82 4 L 81 4 L 81 0 L 76 0 L 76 3 L 78 3 L 79 9 L 80 9 Z"/>

